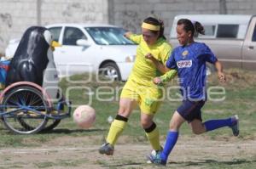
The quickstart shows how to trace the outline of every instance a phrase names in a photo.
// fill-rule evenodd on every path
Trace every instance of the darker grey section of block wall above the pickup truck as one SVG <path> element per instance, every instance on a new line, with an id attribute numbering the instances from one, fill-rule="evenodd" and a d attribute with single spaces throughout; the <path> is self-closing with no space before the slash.
<path id="1" fill-rule="evenodd" d="M 112 0 L 115 25 L 140 32 L 143 19 L 156 16 L 165 23 L 169 37 L 172 20 L 177 14 L 256 14 L 255 0 Z"/>

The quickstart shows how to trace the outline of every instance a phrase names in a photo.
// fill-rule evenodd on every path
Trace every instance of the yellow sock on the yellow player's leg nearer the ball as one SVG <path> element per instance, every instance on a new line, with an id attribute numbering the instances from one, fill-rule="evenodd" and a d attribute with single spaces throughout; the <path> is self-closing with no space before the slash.
<path id="1" fill-rule="evenodd" d="M 114 145 L 116 143 L 120 133 L 123 132 L 126 123 L 127 122 L 125 121 L 119 121 L 116 119 L 111 123 L 111 127 L 109 128 L 108 137 L 106 140 L 109 144 Z"/>

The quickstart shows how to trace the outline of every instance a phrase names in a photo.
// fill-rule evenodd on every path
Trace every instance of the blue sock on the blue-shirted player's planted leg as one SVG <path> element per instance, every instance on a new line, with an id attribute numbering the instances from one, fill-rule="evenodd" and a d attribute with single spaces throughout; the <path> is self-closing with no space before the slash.
<path id="1" fill-rule="evenodd" d="M 177 142 L 177 138 L 178 138 L 178 132 L 170 132 L 170 131 L 167 132 L 166 144 L 160 155 L 160 158 L 162 161 L 165 161 L 165 162 L 167 161 L 168 156 L 172 151 L 172 148 Z"/>

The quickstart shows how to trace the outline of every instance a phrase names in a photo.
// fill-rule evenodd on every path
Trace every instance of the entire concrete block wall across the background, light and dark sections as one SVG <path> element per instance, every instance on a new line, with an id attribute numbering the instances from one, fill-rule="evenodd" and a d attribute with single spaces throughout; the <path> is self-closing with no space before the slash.
<path id="1" fill-rule="evenodd" d="M 31 25 L 110 23 L 139 33 L 154 15 L 168 37 L 176 14 L 256 14 L 255 0 L 1 0 L 0 7 L 0 53 Z"/>

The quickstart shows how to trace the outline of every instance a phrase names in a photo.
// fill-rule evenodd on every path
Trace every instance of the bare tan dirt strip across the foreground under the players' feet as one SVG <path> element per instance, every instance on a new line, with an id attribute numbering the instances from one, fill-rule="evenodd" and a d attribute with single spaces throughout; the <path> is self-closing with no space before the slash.
<path id="1" fill-rule="evenodd" d="M 146 163 L 150 152 L 148 143 L 121 144 L 115 146 L 113 156 L 99 155 L 99 144 L 92 140 L 98 136 L 55 138 L 37 148 L 1 149 L 0 168 L 154 168 Z M 97 141 L 99 142 L 99 141 Z M 255 163 L 256 140 L 239 138 L 211 140 L 206 137 L 181 136 L 168 167 L 202 168 L 209 164 Z M 233 166 L 234 165 L 234 166 Z M 210 167 L 211 168 L 211 167 Z"/>

